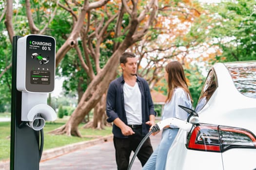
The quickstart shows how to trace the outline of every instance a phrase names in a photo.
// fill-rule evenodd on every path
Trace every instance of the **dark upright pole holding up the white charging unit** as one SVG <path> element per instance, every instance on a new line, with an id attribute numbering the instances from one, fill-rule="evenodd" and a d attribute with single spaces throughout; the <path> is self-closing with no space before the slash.
<path id="1" fill-rule="evenodd" d="M 39 170 L 39 131 L 22 126 L 22 93 L 16 88 L 17 41 L 20 37 L 13 37 L 10 170 Z"/>

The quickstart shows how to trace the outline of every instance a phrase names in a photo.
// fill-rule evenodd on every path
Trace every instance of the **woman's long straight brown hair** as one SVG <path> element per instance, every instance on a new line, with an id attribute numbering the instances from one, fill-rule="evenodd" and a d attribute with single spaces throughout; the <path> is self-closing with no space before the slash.
<path id="1" fill-rule="evenodd" d="M 189 95 L 191 102 L 193 102 L 182 65 L 178 61 L 172 61 L 167 64 L 165 70 L 168 73 L 168 96 L 165 102 L 171 101 L 176 87 L 183 88 L 187 92 L 187 95 Z"/>

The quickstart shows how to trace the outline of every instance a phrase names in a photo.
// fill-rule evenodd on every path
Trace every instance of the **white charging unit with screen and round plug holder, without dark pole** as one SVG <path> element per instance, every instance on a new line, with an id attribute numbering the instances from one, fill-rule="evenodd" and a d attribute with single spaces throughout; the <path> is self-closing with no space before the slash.
<path id="1" fill-rule="evenodd" d="M 47 94 L 55 83 L 55 39 L 46 35 L 26 35 L 17 43 L 17 90 L 22 92 L 21 121 L 34 130 L 57 115 L 47 105 Z"/>

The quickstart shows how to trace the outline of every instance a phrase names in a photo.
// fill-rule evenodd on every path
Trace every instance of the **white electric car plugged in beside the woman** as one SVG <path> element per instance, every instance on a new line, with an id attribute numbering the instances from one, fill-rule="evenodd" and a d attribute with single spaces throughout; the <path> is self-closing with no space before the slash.
<path id="1" fill-rule="evenodd" d="M 215 64 L 196 112 L 199 123 L 179 130 L 166 170 L 256 170 L 256 61 Z"/>

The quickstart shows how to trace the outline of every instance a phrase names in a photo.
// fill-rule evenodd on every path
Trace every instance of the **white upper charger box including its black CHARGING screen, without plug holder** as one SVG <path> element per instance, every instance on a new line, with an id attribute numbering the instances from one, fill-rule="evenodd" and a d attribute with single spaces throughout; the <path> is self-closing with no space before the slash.
<path id="1" fill-rule="evenodd" d="M 55 86 L 55 44 L 47 35 L 26 35 L 17 43 L 17 89 L 51 93 Z"/>

